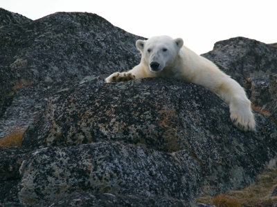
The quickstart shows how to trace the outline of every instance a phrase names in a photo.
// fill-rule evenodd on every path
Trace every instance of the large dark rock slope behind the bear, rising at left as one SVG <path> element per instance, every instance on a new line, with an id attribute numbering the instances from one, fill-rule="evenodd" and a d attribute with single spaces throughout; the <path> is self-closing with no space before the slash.
<path id="1" fill-rule="evenodd" d="M 4 17 L 13 15 L 8 13 Z M 140 58 L 134 45 L 136 39 L 144 38 L 116 28 L 96 14 L 78 12 L 58 12 L 1 28 L 0 137 L 6 134 L 6 126 L 15 128 L 18 123 L 21 128 L 27 128 L 37 111 L 33 98 L 42 100 L 40 107 L 51 92 L 59 90 L 61 82 L 135 66 Z M 32 97 L 30 89 L 40 91 L 36 88 L 41 85 L 25 87 L 37 83 L 49 87 L 42 88 L 39 97 Z M 20 88 L 23 89 L 18 94 L 16 90 Z M 21 97 L 21 94 L 28 95 Z M 24 111 L 17 110 L 15 102 L 19 101 L 30 110 L 20 121 L 15 121 Z"/>

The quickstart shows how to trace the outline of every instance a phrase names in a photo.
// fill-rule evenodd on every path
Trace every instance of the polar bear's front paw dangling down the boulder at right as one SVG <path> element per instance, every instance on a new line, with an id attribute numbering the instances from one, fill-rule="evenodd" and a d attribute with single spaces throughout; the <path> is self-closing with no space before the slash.
<path id="1" fill-rule="evenodd" d="M 244 112 L 242 112 L 242 110 L 233 110 L 231 111 L 230 118 L 233 124 L 240 130 L 253 131 L 256 128 L 254 115 L 251 109 L 247 109 Z"/>

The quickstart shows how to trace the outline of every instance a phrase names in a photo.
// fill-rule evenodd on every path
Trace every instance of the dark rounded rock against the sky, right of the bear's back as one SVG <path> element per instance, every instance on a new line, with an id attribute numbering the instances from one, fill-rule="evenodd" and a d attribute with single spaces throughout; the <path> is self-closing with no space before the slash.
<path id="1" fill-rule="evenodd" d="M 277 73 L 277 48 L 254 39 L 235 37 L 218 41 L 202 55 L 244 85 L 249 77 Z"/>

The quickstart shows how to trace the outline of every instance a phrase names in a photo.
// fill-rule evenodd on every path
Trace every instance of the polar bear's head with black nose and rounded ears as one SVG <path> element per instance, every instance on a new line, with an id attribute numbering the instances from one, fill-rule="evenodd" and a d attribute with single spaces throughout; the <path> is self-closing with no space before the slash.
<path id="1" fill-rule="evenodd" d="M 151 37 L 148 40 L 136 41 L 136 48 L 142 53 L 142 58 L 148 64 L 149 70 L 159 72 L 172 67 L 184 41 L 181 38 L 172 39 L 168 36 Z"/>

